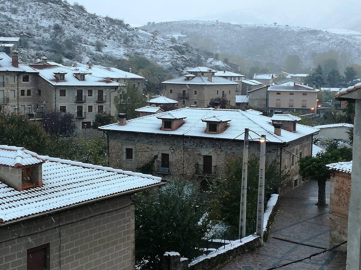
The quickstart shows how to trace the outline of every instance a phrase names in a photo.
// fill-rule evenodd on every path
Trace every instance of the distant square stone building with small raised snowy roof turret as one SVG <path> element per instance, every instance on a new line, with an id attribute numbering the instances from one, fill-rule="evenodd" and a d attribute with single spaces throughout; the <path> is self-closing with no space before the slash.
<path id="1" fill-rule="evenodd" d="M 239 83 L 215 76 L 216 71 L 208 67 L 195 67 L 187 75 L 162 82 L 165 95 L 178 101 L 178 106 L 207 107 L 212 98 L 226 98 L 235 105 Z"/>

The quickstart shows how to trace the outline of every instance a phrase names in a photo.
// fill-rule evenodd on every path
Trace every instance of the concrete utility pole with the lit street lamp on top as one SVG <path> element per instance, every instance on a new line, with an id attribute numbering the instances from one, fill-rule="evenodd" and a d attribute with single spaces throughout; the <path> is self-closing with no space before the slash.
<path id="1" fill-rule="evenodd" d="M 256 234 L 260 235 L 263 244 L 263 220 L 265 205 L 265 166 L 266 166 L 266 135 L 260 138 L 260 173 L 258 176 L 257 226 Z"/>

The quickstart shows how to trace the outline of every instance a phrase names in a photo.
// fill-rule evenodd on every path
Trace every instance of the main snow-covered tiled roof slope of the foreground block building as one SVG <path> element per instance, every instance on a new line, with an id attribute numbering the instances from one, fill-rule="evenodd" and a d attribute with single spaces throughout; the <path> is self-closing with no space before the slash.
<path id="1" fill-rule="evenodd" d="M 44 159 L 42 186 L 16 190 L 0 180 L 0 222 L 100 199 L 161 183 L 161 178 L 137 172 L 65 159 Z"/>

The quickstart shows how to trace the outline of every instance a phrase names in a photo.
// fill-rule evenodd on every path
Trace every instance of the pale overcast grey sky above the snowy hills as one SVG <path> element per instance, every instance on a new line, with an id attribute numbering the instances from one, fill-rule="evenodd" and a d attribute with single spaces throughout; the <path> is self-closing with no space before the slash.
<path id="1" fill-rule="evenodd" d="M 69 1 L 69 0 L 68 0 Z M 219 20 L 240 24 L 289 24 L 310 28 L 351 28 L 347 22 L 361 9 L 360 0 L 77 0 L 88 12 L 124 19 L 131 26 L 147 22 Z M 69 1 L 70 4 L 74 2 Z M 101 4 L 99 4 L 101 3 Z M 287 4 L 291 3 L 291 4 Z M 293 3 L 293 4 L 292 4 Z M 359 22 L 359 21 L 358 21 Z M 355 30 L 355 29 L 354 29 Z"/>

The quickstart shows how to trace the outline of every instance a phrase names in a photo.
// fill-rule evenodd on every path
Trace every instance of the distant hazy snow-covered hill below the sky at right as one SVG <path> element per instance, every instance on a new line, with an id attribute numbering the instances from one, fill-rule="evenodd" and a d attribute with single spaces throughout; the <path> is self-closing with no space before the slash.
<path id="1" fill-rule="evenodd" d="M 196 38 L 199 44 L 203 39 L 212 43 L 214 53 L 241 55 L 262 64 L 270 62 L 282 66 L 287 55 L 299 55 L 304 67 L 311 67 L 314 55 L 329 50 L 343 52 L 344 60 L 349 64 L 361 64 L 361 33 L 352 35 L 301 27 L 207 21 L 164 22 L 143 28 L 185 41 Z"/>

